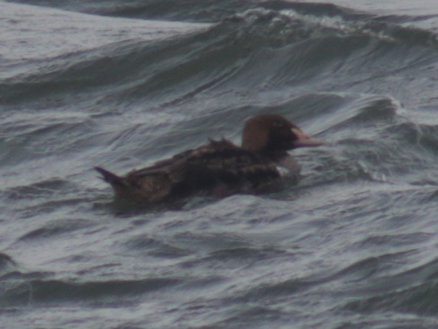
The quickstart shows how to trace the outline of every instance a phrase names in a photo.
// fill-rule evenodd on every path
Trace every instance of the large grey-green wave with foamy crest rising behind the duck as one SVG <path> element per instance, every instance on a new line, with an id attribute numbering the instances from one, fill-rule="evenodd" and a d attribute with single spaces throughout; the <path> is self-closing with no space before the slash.
<path id="1" fill-rule="evenodd" d="M 190 6 L 216 6 L 201 2 Z M 155 5 L 152 2 L 147 6 Z M 115 85 L 123 89 L 111 88 L 118 99 L 152 98 L 169 90 L 181 90 L 175 98 L 186 99 L 222 86 L 224 81 L 231 80 L 229 83 L 237 86 L 257 81 L 259 88 L 280 88 L 325 78 L 345 68 L 351 71 L 373 62 L 375 56 L 384 61 L 382 65 L 394 68 L 400 63 L 426 63 L 432 54 L 435 56 L 434 33 L 332 4 L 267 1 L 255 8 L 242 6 L 241 13 L 222 17 L 208 31 L 193 36 L 155 41 L 153 45 L 125 40 L 52 58 L 38 72 L 3 80 L 0 102 L 49 94 L 99 97 L 104 86 Z M 412 56 L 413 51 L 422 54 Z M 396 61 L 388 61 L 389 57 Z M 156 62 L 156 58 L 161 59 Z M 260 67 L 257 75 L 253 67 Z M 282 77 L 286 72 L 292 76 Z M 236 77 L 239 80 L 234 80 Z M 92 91 L 97 95 L 90 94 Z"/>

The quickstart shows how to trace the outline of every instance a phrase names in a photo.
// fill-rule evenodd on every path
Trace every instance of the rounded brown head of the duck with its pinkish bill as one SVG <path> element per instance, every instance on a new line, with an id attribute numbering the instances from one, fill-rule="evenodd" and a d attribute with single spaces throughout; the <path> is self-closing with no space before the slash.
<path id="1" fill-rule="evenodd" d="M 307 136 L 282 115 L 257 115 L 243 128 L 242 148 L 270 158 L 282 157 L 286 151 L 297 147 L 319 145 L 323 143 Z"/>

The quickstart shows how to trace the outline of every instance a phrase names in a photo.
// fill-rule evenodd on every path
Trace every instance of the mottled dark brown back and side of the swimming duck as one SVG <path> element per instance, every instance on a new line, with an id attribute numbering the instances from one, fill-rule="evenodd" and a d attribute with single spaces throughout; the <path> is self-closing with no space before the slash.
<path id="1" fill-rule="evenodd" d="M 273 162 L 222 139 L 133 170 L 111 185 L 119 195 L 158 202 L 196 193 L 265 193 L 282 180 Z"/>

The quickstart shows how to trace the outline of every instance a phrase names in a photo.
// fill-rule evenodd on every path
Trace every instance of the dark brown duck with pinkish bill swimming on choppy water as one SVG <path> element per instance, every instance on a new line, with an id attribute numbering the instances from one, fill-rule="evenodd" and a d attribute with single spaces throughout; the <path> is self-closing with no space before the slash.
<path id="1" fill-rule="evenodd" d="M 116 197 L 147 203 L 211 195 L 279 191 L 284 176 L 298 175 L 300 166 L 289 155 L 298 147 L 323 145 L 305 134 L 282 115 L 261 114 L 249 118 L 243 127 L 241 146 L 222 138 L 186 150 L 152 166 L 119 176 L 102 167 L 95 170 L 110 184 Z"/>

